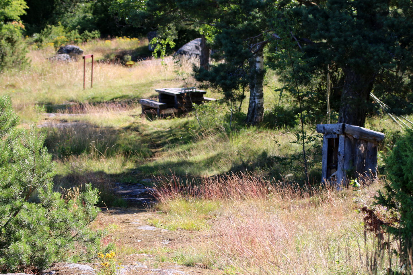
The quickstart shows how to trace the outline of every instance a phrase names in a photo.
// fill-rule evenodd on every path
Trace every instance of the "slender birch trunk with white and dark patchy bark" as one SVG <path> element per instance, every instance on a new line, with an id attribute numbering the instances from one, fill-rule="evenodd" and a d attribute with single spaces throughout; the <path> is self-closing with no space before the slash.
<path id="1" fill-rule="evenodd" d="M 252 56 L 250 62 L 249 105 L 245 122 L 249 125 L 259 124 L 264 115 L 264 54 L 262 49 Z"/>

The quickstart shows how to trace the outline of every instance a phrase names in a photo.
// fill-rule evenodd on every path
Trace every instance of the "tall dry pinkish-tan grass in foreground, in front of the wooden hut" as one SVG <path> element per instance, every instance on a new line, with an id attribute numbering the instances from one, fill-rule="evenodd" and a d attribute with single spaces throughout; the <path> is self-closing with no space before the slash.
<path id="1" fill-rule="evenodd" d="M 209 233 L 180 248 L 205 264 L 241 274 L 369 274 L 374 236 L 364 235 L 363 215 L 355 209 L 379 186 L 337 191 L 232 174 L 198 184 L 172 177 L 155 194 L 160 209 L 183 199 L 220 202 Z M 385 274 L 380 266 L 375 270 Z"/>

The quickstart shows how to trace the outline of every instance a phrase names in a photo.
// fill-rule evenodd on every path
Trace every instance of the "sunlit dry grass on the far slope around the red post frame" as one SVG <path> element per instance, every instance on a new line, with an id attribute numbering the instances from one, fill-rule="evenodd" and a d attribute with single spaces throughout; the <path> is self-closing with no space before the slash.
<path id="1" fill-rule="evenodd" d="M 108 42 L 109 41 L 109 42 Z M 126 43 L 126 44 L 125 44 Z M 136 45 L 130 45 L 135 43 Z M 142 47 L 142 42 L 97 40 L 84 46 L 85 54 L 101 56 L 116 52 L 122 47 Z M 183 81 L 177 77 L 177 67 L 171 57 L 136 62 L 132 68 L 110 63 L 94 65 L 93 88 L 90 89 L 90 59 L 86 66 L 86 86 L 83 90 L 83 60 L 73 62 L 50 61 L 55 54 L 51 47 L 31 50 L 28 58 L 31 66 L 24 71 L 11 70 L 2 73 L 0 95 L 9 95 L 14 109 L 23 122 L 36 122 L 41 116 L 37 106 L 64 102 L 122 101 L 154 96 L 154 88 L 181 87 Z M 162 65 L 164 64 L 164 65 Z M 189 73 L 191 62 L 183 61 L 180 71 Z M 192 81 L 193 82 L 193 81 Z M 192 84 L 191 82 L 191 84 Z M 188 82 L 189 83 L 189 82 Z"/>

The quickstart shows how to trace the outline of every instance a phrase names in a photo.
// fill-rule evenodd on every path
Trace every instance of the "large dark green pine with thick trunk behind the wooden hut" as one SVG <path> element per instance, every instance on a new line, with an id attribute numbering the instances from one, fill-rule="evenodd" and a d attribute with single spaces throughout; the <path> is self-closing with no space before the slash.
<path id="1" fill-rule="evenodd" d="M 295 65 L 303 72 L 299 79 L 303 84 L 318 81 L 320 76 L 325 83 L 325 76 L 335 70 L 337 81 L 331 88 L 339 97 L 338 122 L 364 126 L 366 114 L 374 107 L 371 92 L 397 112 L 411 112 L 411 0 L 283 2 L 272 19 L 281 40 L 274 41 L 271 51 L 277 57 L 285 51 L 284 59 L 290 53 L 299 56 Z M 282 58 L 278 66 L 285 69 Z"/>

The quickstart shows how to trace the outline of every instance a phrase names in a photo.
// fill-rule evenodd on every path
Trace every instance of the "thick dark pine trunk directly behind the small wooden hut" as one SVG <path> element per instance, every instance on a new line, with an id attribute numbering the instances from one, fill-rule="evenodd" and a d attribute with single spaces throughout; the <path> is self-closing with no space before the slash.
<path id="1" fill-rule="evenodd" d="M 373 89 L 375 73 L 358 73 L 354 69 L 344 69 L 344 87 L 341 94 L 339 123 L 364 127 L 368 99 Z"/>

